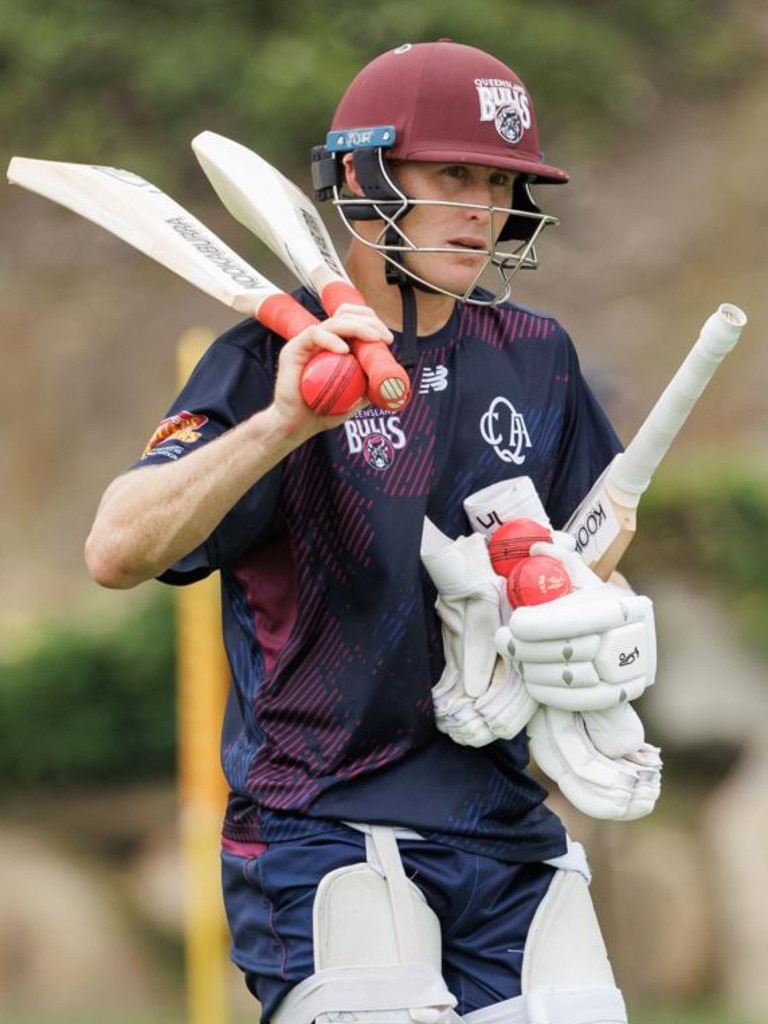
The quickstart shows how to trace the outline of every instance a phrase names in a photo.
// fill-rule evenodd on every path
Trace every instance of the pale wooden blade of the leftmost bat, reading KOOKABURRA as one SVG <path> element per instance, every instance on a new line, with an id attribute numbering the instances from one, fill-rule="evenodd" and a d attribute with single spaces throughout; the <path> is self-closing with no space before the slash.
<path id="1" fill-rule="evenodd" d="M 130 171 L 14 157 L 8 180 L 105 228 L 242 313 L 256 316 L 278 289 L 205 224 Z"/>

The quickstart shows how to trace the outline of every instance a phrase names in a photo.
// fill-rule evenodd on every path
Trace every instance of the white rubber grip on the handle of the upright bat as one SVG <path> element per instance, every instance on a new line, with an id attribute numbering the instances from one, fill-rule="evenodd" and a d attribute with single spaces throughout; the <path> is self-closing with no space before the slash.
<path id="1" fill-rule="evenodd" d="M 701 392 L 738 341 L 746 314 L 723 303 L 701 328 L 698 340 L 662 392 L 645 422 L 618 456 L 609 474 L 610 489 L 639 496 L 664 459 Z"/>

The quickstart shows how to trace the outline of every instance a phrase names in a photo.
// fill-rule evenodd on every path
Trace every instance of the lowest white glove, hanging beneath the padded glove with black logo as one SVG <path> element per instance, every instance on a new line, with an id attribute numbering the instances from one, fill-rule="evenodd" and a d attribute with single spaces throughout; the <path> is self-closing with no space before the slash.
<path id="1" fill-rule="evenodd" d="M 528 742 L 539 767 L 557 782 L 573 807 L 593 818 L 632 821 L 650 814 L 658 799 L 660 752 L 643 740 L 621 755 L 604 754 L 590 734 L 588 719 L 611 717 L 612 714 L 598 712 L 583 716 L 555 708 L 540 708 L 528 723 Z M 609 726 L 608 722 L 604 724 Z M 633 720 L 624 734 L 626 742 L 631 741 L 631 733 L 636 728 L 637 723 Z M 642 725 L 640 729 L 642 731 Z M 598 731 L 604 733 L 601 736 L 604 740 L 610 729 L 598 728 Z M 621 738 L 614 738 L 609 745 L 621 748 Z"/>

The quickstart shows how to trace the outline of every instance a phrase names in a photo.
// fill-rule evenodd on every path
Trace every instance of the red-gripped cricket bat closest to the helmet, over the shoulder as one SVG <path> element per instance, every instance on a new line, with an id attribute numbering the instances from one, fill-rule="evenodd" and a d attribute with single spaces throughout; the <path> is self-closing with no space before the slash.
<path id="1" fill-rule="evenodd" d="M 204 131 L 191 145 L 226 209 L 314 292 L 329 315 L 344 302 L 369 305 L 300 188 L 252 150 L 223 135 Z M 350 347 L 368 377 L 371 401 L 392 412 L 402 409 L 411 397 L 411 382 L 388 346 L 353 340 Z"/>

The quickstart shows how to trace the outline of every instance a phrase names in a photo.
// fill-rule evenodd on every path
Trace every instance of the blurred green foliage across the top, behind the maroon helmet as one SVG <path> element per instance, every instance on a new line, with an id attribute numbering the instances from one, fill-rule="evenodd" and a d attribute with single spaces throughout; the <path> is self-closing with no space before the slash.
<path id="1" fill-rule="evenodd" d="M 547 146 L 723 94 L 761 59 L 726 0 L 0 0 L 3 144 L 193 188 L 188 143 L 212 129 L 295 172 L 364 63 L 440 37 L 521 75 Z"/>

